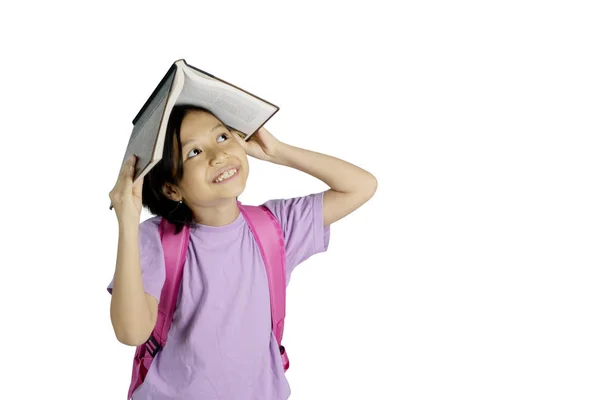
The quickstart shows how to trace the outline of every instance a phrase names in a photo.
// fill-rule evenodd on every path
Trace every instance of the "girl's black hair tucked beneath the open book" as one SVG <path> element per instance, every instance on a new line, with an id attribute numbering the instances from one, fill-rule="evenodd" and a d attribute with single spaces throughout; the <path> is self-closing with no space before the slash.
<path id="1" fill-rule="evenodd" d="M 178 105 L 173 108 L 165 135 L 162 159 L 144 176 L 142 205 L 152 214 L 161 216 L 175 225 L 175 233 L 184 226 L 194 227 L 196 221 L 192 210 L 184 203 L 173 201 L 163 193 L 166 183 L 179 185 L 183 179 L 181 149 L 181 123 L 189 111 L 197 110 L 212 114 L 202 107 Z"/>

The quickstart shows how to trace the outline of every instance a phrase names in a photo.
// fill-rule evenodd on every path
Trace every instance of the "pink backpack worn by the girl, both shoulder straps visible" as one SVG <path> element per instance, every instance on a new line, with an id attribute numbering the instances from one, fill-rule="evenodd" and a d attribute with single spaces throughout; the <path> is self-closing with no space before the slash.
<path id="1" fill-rule="evenodd" d="M 284 371 L 287 371 L 290 363 L 285 348 L 281 345 L 285 319 L 286 289 L 285 247 L 281 226 L 265 206 L 244 206 L 238 202 L 238 207 L 258 243 L 267 270 L 271 297 L 271 326 L 279 345 Z M 166 279 L 158 304 L 156 326 L 148 341 L 136 348 L 131 385 L 127 394 L 128 400 L 131 399 L 133 392 L 146 378 L 154 356 L 167 343 L 190 238 L 189 227 L 184 226 L 183 230 L 176 235 L 175 226 L 164 218 L 160 223 L 159 233 L 165 254 Z"/>

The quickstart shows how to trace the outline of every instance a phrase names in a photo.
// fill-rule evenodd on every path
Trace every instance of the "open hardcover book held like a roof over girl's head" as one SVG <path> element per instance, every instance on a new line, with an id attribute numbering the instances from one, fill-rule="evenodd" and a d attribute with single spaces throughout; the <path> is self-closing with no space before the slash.
<path id="1" fill-rule="evenodd" d="M 133 131 L 123 163 L 132 154 L 138 157 L 134 184 L 162 158 L 169 116 L 173 107 L 179 104 L 206 108 L 226 126 L 242 133 L 244 140 L 279 111 L 276 105 L 201 71 L 185 60 L 175 61 L 133 119 Z"/>

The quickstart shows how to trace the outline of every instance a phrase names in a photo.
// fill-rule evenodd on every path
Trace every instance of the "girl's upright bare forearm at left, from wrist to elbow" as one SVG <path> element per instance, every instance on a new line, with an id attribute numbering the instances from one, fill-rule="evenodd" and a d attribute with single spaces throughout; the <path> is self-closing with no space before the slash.
<path id="1" fill-rule="evenodd" d="M 153 317 L 142 283 L 137 225 L 119 225 L 110 316 L 117 339 L 138 345 L 152 332 Z"/>

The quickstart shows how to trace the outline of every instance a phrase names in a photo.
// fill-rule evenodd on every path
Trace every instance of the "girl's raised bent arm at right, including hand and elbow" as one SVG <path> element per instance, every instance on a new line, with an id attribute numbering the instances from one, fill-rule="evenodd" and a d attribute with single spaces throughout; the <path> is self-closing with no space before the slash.
<path id="1" fill-rule="evenodd" d="M 249 155 L 295 168 L 327 184 L 330 189 L 323 199 L 324 225 L 344 218 L 365 204 L 377 190 L 377 179 L 364 169 L 332 156 L 282 143 L 265 128 L 260 128 L 248 142 L 234 136 Z"/>

